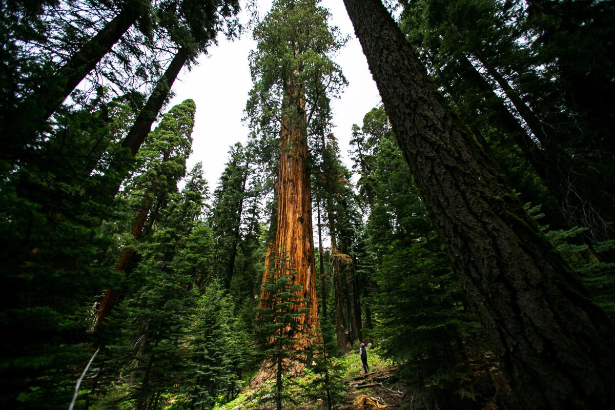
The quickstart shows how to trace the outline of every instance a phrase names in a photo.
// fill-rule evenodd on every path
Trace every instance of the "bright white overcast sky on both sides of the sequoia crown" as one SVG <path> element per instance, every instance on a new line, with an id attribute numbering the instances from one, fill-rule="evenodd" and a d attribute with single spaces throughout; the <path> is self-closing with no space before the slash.
<path id="1" fill-rule="evenodd" d="M 271 0 L 258 0 L 258 4 L 261 16 L 271 9 Z M 344 162 L 350 167 L 347 151 L 352 124 L 362 124 L 365 113 L 378 105 L 381 98 L 359 40 L 354 36 L 343 0 L 323 0 L 322 6 L 331 12 L 330 25 L 338 26 L 342 34 L 351 35 L 351 40 L 335 58 L 349 85 L 341 98 L 331 103 L 335 125 L 333 134 L 338 138 Z M 240 22 L 247 26 L 245 10 L 240 14 Z M 193 153 L 188 159 L 188 169 L 202 161 L 210 190 L 224 170 L 229 147 L 237 141 L 245 143 L 249 133 L 241 119 L 248 92 L 252 89 L 248 53 L 255 47 L 252 33 L 248 31 L 239 40 L 221 39 L 218 47 L 209 50 L 208 56 L 199 58 L 199 65 L 191 71 L 184 69 L 173 85 L 175 97 L 167 109 L 187 98 L 196 103 Z"/>

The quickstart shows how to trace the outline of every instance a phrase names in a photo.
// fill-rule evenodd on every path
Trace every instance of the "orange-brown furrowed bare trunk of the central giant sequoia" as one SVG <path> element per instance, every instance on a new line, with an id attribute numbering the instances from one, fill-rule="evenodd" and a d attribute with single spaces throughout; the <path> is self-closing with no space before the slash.
<path id="1" fill-rule="evenodd" d="M 277 191 L 277 230 L 274 247 L 268 249 L 263 281 L 271 280 L 284 270 L 295 270 L 292 285 L 303 286 L 302 302 L 293 309 L 309 308 L 298 318 L 302 332 L 296 337 L 294 349 L 305 350 L 317 335 L 319 328 L 314 266 L 314 239 L 312 237 L 312 198 L 308 167 L 308 138 L 305 97 L 302 87 L 287 81 L 282 104 L 280 126 L 280 164 Z M 271 261 L 271 258 L 274 258 Z M 286 261 L 286 262 L 285 262 Z M 284 264 L 284 266 L 282 266 Z M 271 269 L 271 265 L 273 269 Z M 263 287 L 261 287 L 262 289 Z M 261 291 L 260 299 L 269 295 Z M 300 371 L 299 363 L 291 364 L 293 372 Z M 265 364 L 251 384 L 276 376 L 274 367 Z"/>

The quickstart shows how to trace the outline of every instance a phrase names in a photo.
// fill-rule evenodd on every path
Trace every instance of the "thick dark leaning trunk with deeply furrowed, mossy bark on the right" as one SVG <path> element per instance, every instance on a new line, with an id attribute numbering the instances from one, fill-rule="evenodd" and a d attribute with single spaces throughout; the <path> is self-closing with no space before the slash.
<path id="1" fill-rule="evenodd" d="M 344 0 L 400 148 L 528 409 L 609 409 L 613 333 L 451 114 L 380 0 Z"/>

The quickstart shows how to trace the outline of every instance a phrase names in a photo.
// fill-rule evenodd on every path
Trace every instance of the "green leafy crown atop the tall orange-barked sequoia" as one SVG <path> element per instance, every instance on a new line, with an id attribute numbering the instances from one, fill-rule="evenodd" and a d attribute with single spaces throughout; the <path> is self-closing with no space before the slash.
<path id="1" fill-rule="evenodd" d="M 300 120 L 296 104 L 303 98 L 308 126 L 319 133 L 328 124 L 328 98 L 346 84 L 332 57 L 347 41 L 328 25 L 329 17 L 319 0 L 278 0 L 256 24 L 258 44 L 250 53 L 254 87 L 246 106 L 254 130 L 276 135 L 282 117 Z M 293 87 L 296 95 L 288 95 Z"/>

